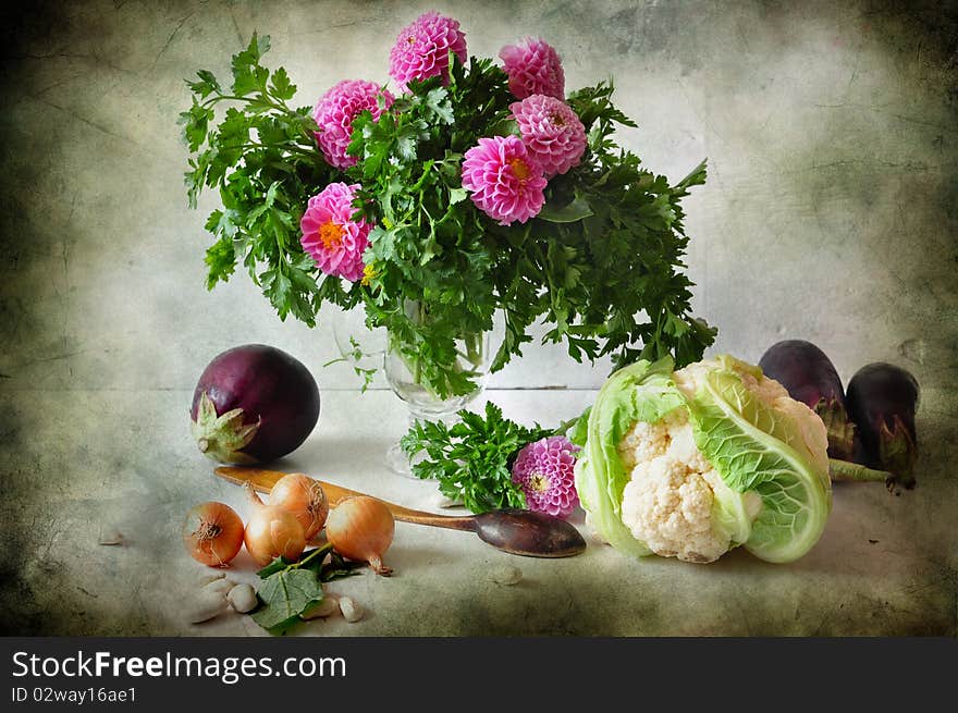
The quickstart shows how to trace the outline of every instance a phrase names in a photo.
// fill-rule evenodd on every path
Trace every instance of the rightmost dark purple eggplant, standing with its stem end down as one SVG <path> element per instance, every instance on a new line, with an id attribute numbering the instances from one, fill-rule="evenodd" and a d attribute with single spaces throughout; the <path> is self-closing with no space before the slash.
<path id="1" fill-rule="evenodd" d="M 920 394 L 909 371 L 884 361 L 863 366 L 848 382 L 848 414 L 858 427 L 864 464 L 891 471 L 894 484 L 907 489 L 916 483 Z"/>

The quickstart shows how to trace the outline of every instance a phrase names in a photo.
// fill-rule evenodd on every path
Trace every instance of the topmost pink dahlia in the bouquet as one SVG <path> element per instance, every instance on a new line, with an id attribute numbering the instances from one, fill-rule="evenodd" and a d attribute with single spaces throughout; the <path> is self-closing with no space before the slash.
<path id="1" fill-rule="evenodd" d="M 413 79 L 441 75 L 443 83 L 447 83 L 450 50 L 466 63 L 466 35 L 458 21 L 437 12 L 422 13 L 400 32 L 390 51 L 390 76 L 402 91 Z"/>

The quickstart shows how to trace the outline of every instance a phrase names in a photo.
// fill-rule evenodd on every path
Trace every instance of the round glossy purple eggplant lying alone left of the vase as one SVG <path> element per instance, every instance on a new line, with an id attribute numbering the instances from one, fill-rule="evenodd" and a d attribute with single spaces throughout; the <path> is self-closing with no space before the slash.
<path id="1" fill-rule="evenodd" d="M 263 344 L 228 349 L 204 369 L 193 394 L 193 438 L 218 463 L 256 464 L 295 451 L 319 420 L 309 369 Z"/>

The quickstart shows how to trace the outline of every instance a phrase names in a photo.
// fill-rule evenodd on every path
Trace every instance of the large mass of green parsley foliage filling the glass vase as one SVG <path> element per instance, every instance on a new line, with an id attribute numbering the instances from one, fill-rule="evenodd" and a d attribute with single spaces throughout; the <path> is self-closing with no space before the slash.
<path id="1" fill-rule="evenodd" d="M 671 185 L 619 148 L 615 131 L 636 124 L 613 105 L 611 84 L 567 97 L 588 132 L 581 163 L 550 181 L 537 218 L 506 228 L 460 181 L 464 153 L 480 137 L 517 131 L 515 98 L 492 60 L 464 65 L 453 54 L 447 85 L 414 82 L 379 120 L 360 113 L 348 148 L 358 162 L 340 171 L 318 150 L 309 109 L 290 107 L 296 87 L 286 72 L 261 64 L 268 49 L 268 37 L 253 37 L 233 58 L 229 89 L 208 71 L 187 83 L 189 205 L 205 189 L 222 201 L 206 224 L 216 238 L 208 287 L 242 266 L 281 319 L 309 325 L 326 302 L 361 304 L 367 325 L 385 328 L 419 383 L 441 397 L 474 390 L 460 347 L 490 330 L 496 311 L 505 333 L 493 371 L 521 355 L 538 322 L 549 327 L 544 341 L 564 343 L 574 359 L 609 355 L 616 367 L 665 355 L 681 366 L 714 340 L 690 315 L 692 283 L 681 272 L 680 201 L 705 181 L 704 163 Z M 229 108 L 218 115 L 221 103 Z M 309 197 L 334 181 L 360 184 L 357 214 L 374 224 L 361 283 L 323 275 L 299 245 Z"/>

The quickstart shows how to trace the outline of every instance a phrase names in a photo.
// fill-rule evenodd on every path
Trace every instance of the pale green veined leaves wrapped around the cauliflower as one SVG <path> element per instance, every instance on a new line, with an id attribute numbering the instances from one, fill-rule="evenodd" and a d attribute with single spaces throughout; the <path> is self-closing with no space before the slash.
<path id="1" fill-rule="evenodd" d="M 636 421 L 655 423 L 680 408 L 699 451 L 727 485 L 714 489 L 713 531 L 767 562 L 801 557 L 821 537 L 832 497 L 827 470 L 802 438 L 800 411 L 766 403 L 751 388 L 761 370 L 734 357 L 692 365 L 683 372 L 681 386 L 673 366 L 665 357 L 619 369 L 577 425 L 574 439 L 582 450 L 576 489 L 589 525 L 626 554 L 652 554 L 622 519 L 630 474 L 617 446 Z M 748 383 L 746 376 L 751 377 Z"/>

